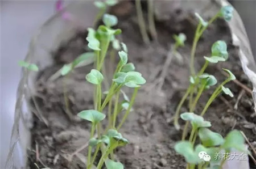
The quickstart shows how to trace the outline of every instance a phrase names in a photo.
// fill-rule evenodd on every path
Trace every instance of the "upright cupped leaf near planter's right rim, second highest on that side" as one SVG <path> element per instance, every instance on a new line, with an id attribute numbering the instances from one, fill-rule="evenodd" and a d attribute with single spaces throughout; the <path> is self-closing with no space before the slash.
<path id="1" fill-rule="evenodd" d="M 212 50 L 212 56 L 222 57 L 225 60 L 227 60 L 229 57 L 225 41 L 222 41 L 222 40 L 216 41 L 212 45 L 211 50 Z"/>

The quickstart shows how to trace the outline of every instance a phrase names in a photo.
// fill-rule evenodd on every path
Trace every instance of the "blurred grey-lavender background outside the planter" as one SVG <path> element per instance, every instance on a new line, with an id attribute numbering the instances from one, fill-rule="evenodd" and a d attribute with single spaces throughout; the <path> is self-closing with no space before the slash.
<path id="1" fill-rule="evenodd" d="M 71 1 L 65 4 L 69 2 Z M 237 9 L 243 19 L 255 58 L 256 0 L 236 0 L 229 2 Z M 53 0 L 0 0 L 0 168 L 5 168 L 5 160 L 9 151 L 11 128 L 14 119 L 16 88 L 21 76 L 21 69 L 17 63 L 26 56 L 28 43 L 35 30 L 53 14 L 55 14 L 55 1 Z"/>

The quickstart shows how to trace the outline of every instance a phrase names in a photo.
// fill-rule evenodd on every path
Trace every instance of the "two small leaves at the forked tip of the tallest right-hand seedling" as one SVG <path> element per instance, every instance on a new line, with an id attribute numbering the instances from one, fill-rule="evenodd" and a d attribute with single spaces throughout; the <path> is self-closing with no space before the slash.
<path id="1" fill-rule="evenodd" d="M 230 21 L 233 16 L 233 7 L 228 5 L 221 8 L 220 12 L 218 12 L 218 16 L 224 18 L 226 21 Z M 208 26 L 208 22 L 206 22 L 197 12 L 195 16 L 199 19 L 199 22 L 202 24 L 203 27 Z"/>

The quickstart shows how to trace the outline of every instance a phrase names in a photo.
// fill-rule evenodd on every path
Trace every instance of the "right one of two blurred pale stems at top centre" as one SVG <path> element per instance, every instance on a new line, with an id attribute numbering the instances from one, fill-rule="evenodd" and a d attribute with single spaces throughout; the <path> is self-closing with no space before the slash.
<path id="1" fill-rule="evenodd" d="M 155 20 L 154 20 L 154 2 L 153 0 L 148 0 L 147 1 L 147 18 L 148 18 L 148 25 L 150 29 L 150 33 L 154 39 L 157 39 L 157 32 L 155 28 Z"/>

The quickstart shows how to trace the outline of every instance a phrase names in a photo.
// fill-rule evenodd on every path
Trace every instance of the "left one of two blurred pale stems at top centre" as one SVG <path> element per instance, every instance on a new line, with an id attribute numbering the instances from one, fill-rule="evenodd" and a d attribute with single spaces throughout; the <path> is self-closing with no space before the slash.
<path id="1" fill-rule="evenodd" d="M 142 7 L 141 7 L 141 0 L 136 0 L 135 5 L 136 5 L 139 29 L 141 31 L 142 39 L 145 44 L 149 44 L 150 39 L 147 36 L 146 24 L 144 22 L 143 12 L 142 12 Z"/>

